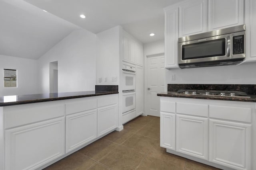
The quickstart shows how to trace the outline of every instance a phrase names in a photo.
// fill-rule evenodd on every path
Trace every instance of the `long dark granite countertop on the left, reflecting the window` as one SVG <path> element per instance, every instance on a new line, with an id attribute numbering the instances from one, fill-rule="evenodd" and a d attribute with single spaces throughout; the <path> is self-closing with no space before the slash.
<path id="1" fill-rule="evenodd" d="M 118 91 L 84 91 L 84 92 L 63 92 L 49 94 L 28 94 L 17 96 L 0 97 L 0 106 L 12 106 L 18 104 L 30 104 L 38 102 L 49 102 L 54 100 L 65 100 L 74 98 L 84 98 L 107 94 L 118 94 Z"/>

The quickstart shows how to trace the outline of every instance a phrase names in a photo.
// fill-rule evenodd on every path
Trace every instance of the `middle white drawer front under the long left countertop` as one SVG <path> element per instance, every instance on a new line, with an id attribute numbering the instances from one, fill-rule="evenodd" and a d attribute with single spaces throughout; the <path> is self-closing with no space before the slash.
<path id="1" fill-rule="evenodd" d="M 66 103 L 66 115 L 97 108 L 96 98 L 73 99 Z"/>

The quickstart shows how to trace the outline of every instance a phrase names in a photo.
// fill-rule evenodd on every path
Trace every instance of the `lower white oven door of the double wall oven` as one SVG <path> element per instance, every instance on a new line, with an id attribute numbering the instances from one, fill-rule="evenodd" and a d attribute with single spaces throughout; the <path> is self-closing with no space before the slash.
<path id="1" fill-rule="evenodd" d="M 135 91 L 123 92 L 122 113 L 135 109 Z"/>

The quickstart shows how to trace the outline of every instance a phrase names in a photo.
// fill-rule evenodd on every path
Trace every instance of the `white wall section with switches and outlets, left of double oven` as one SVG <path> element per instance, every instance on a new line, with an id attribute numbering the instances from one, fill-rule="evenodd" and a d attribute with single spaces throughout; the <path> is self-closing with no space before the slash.
<path id="1" fill-rule="evenodd" d="M 120 31 L 122 27 L 116 26 L 96 34 L 96 85 L 119 85 Z M 112 82 L 112 76 L 117 81 Z"/>

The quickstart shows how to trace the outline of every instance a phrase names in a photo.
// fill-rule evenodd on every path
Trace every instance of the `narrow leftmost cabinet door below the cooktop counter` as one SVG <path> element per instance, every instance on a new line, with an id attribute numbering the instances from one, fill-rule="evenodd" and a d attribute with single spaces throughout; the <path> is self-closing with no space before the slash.
<path id="1" fill-rule="evenodd" d="M 175 114 L 160 112 L 160 147 L 175 150 Z"/>

